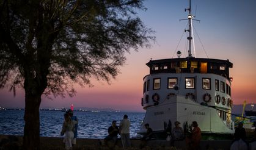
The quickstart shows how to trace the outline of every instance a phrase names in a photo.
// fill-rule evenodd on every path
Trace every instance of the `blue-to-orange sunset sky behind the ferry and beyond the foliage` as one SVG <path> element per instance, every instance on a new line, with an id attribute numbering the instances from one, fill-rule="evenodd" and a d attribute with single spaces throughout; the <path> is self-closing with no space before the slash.
<path id="1" fill-rule="evenodd" d="M 188 0 L 148 0 L 144 2 L 147 11 L 139 11 L 144 24 L 155 30 L 156 43 L 150 49 L 139 49 L 126 54 L 127 61 L 120 68 L 122 74 L 106 82 L 92 79 L 94 87 L 76 86 L 73 98 L 43 97 L 41 107 L 98 107 L 123 111 L 144 112 L 141 107 L 143 77 L 149 73 L 145 65 L 150 58 L 172 58 L 175 50 L 185 55 Z M 256 1 L 255 0 L 192 0 L 192 14 L 200 20 L 193 22 L 207 55 L 211 59 L 229 59 L 234 104 L 256 102 Z M 196 9 L 197 8 L 197 9 Z M 196 57 L 207 58 L 196 32 Z M 180 45 L 178 42 L 180 41 Z M 194 55 L 194 53 L 193 53 Z M 174 57 L 177 57 L 176 54 Z M 16 96 L 8 89 L 0 90 L 1 107 L 24 107 L 24 91 L 18 90 Z"/>

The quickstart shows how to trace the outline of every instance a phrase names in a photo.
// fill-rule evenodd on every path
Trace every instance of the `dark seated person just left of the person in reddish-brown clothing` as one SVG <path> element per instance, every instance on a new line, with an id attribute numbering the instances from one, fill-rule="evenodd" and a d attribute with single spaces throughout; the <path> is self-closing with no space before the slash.
<path id="1" fill-rule="evenodd" d="M 184 132 L 182 127 L 180 127 L 180 122 L 175 121 L 175 127 L 172 129 L 172 140 L 171 144 L 174 145 L 174 141 L 180 141 L 184 138 Z"/>

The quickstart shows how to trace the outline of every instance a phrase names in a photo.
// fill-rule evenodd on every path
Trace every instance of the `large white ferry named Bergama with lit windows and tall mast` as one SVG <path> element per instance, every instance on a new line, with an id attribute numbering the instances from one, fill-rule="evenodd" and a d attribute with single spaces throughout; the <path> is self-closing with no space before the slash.
<path id="1" fill-rule="evenodd" d="M 188 20 L 188 56 L 150 60 L 146 65 L 149 74 L 144 78 L 141 105 L 146 110 L 144 121 L 138 132 L 146 133 L 144 124 L 150 124 L 156 138 L 166 138 L 166 130 L 179 121 L 184 130 L 191 129 L 192 121 L 197 121 L 202 135 L 231 137 L 232 98 L 229 68 L 233 64 L 227 60 L 196 58 L 191 54 L 192 20 L 191 1 Z"/>

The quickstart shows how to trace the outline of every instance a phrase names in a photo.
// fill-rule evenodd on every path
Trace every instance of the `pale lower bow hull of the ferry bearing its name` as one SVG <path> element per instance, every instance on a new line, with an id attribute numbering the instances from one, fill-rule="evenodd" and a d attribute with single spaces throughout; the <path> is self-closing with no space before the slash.
<path id="1" fill-rule="evenodd" d="M 192 121 L 197 121 L 202 133 L 205 134 L 232 135 L 234 133 L 233 122 L 222 121 L 213 107 L 200 105 L 185 96 L 175 95 L 158 105 L 147 108 L 139 134 L 146 132 L 144 129 L 146 123 L 150 124 L 154 132 L 164 132 L 169 123 L 174 127 L 175 121 L 179 121 L 183 127 L 186 123 L 189 126 Z"/>

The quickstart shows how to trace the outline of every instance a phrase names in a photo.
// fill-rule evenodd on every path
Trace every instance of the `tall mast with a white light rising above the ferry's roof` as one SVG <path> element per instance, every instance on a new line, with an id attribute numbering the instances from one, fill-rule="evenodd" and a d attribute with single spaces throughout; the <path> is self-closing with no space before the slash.
<path id="1" fill-rule="evenodd" d="M 185 12 L 186 11 L 189 11 L 188 13 L 188 19 L 184 19 L 184 20 L 188 20 L 189 21 L 189 29 L 185 29 L 185 32 L 188 31 L 189 32 L 189 36 L 188 36 L 188 41 L 189 41 L 189 48 L 188 48 L 188 57 L 193 57 L 192 54 L 191 54 L 191 40 L 193 39 L 192 37 L 192 20 L 194 20 L 193 18 L 195 16 L 192 16 L 191 15 L 191 0 L 189 0 L 189 8 L 188 9 L 185 9 Z M 180 20 L 181 21 L 181 20 Z M 196 20 L 196 21 L 200 21 L 200 20 Z"/>

